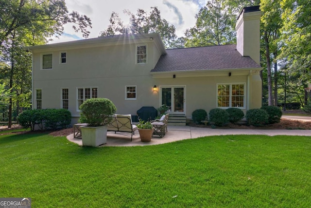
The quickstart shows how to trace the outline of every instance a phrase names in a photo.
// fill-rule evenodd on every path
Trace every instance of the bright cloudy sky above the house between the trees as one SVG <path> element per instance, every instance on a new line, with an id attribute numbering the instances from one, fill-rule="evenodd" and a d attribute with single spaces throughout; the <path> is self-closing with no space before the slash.
<path id="1" fill-rule="evenodd" d="M 150 12 L 150 7 L 156 6 L 161 12 L 161 18 L 173 24 L 176 35 L 181 37 L 186 29 L 195 24 L 195 15 L 206 5 L 207 0 L 65 0 L 69 13 L 77 11 L 80 15 L 86 15 L 92 21 L 92 28 L 89 28 L 88 38 L 97 38 L 100 32 L 109 25 L 109 18 L 112 12 L 119 14 L 125 24 L 128 23 L 128 16 L 123 10 L 130 10 L 133 14 L 138 9 Z M 72 25 L 64 25 L 64 33 L 59 38 L 52 38 L 49 43 L 66 42 L 83 39 L 80 32 L 75 33 Z"/>

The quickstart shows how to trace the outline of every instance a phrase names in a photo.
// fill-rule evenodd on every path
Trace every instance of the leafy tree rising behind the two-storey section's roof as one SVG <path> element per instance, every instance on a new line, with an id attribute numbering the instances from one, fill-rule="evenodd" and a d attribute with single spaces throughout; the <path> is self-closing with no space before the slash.
<path id="1" fill-rule="evenodd" d="M 129 10 L 124 10 L 123 13 L 129 16 L 128 24 L 122 22 L 118 13 L 112 12 L 109 19 L 110 24 L 106 30 L 101 32 L 100 36 L 159 33 L 166 48 L 172 48 L 176 44 L 175 27 L 170 25 L 166 19 L 161 18 L 157 7 L 151 7 L 149 13 L 142 9 L 138 9 L 137 14 L 133 14 Z"/>

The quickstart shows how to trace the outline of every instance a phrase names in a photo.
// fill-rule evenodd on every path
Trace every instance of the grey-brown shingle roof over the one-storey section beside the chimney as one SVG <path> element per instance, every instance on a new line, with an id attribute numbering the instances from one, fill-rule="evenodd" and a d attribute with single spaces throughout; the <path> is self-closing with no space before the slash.
<path id="1" fill-rule="evenodd" d="M 259 68 L 250 57 L 242 57 L 236 45 L 168 49 L 151 72 L 200 71 Z"/>

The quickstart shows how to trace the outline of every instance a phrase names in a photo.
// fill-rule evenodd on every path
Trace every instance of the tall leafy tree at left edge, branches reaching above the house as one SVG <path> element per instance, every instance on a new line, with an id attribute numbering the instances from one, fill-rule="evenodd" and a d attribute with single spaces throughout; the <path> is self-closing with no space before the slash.
<path id="1" fill-rule="evenodd" d="M 23 47 L 44 44 L 62 34 L 63 24 L 88 37 L 91 21 L 77 12 L 69 13 L 64 0 L 0 0 L 1 74 L 9 80 L 9 127 L 13 105 L 29 107 L 31 96 L 31 55 Z M 17 110 L 18 114 L 18 110 Z"/>

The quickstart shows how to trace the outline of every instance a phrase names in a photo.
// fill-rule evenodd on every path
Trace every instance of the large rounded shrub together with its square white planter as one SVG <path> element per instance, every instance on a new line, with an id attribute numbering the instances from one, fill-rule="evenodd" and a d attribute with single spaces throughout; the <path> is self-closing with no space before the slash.
<path id="1" fill-rule="evenodd" d="M 116 113 L 116 106 L 107 98 L 87 99 L 80 106 L 80 123 L 86 123 L 82 126 L 82 145 L 98 147 L 107 143 L 107 125 L 111 116 Z"/>

